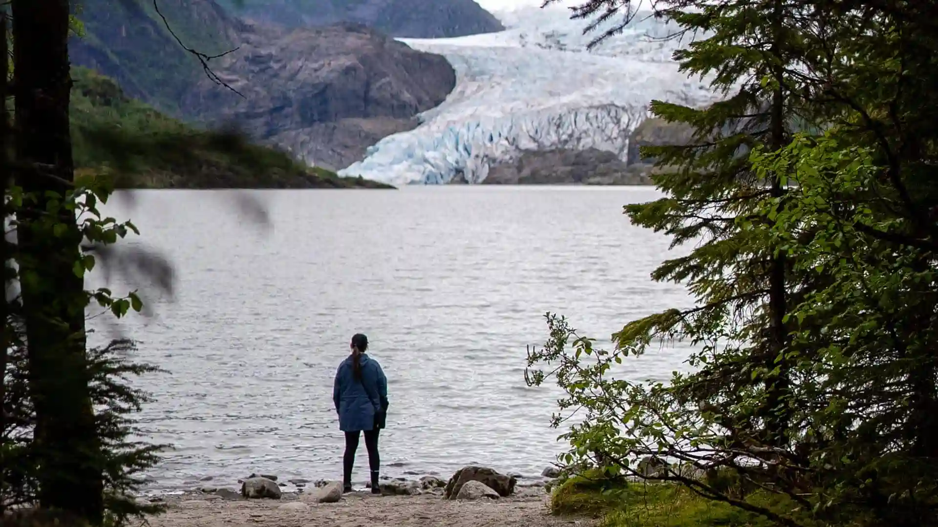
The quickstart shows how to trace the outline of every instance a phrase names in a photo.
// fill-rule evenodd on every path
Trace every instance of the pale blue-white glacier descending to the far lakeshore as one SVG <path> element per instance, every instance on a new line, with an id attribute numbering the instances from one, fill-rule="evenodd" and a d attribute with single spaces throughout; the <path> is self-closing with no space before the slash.
<path id="1" fill-rule="evenodd" d="M 568 13 L 496 11 L 505 31 L 400 38 L 446 56 L 456 87 L 418 115 L 418 127 L 372 145 L 340 175 L 398 186 L 454 177 L 479 183 L 497 161 L 552 148 L 595 147 L 626 160 L 629 134 L 647 118 L 652 99 L 699 106 L 718 98 L 708 82 L 678 71 L 672 54 L 687 40 L 665 38 L 677 31 L 673 22 L 640 15 L 587 51 L 597 33 L 583 35 L 586 21 Z"/>

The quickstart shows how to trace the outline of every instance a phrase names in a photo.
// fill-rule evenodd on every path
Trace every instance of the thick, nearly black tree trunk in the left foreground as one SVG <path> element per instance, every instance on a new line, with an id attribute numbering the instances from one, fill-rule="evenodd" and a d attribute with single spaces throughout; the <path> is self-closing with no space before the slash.
<path id="1" fill-rule="evenodd" d="M 102 474 L 85 365 L 84 283 L 73 270 L 82 234 L 73 212 L 46 212 L 73 177 L 68 0 L 12 0 L 11 8 L 17 179 L 38 200 L 19 215 L 25 224 L 17 236 L 39 504 L 100 524 Z M 55 222 L 65 231 L 55 232 Z"/>

